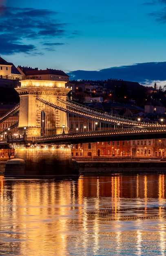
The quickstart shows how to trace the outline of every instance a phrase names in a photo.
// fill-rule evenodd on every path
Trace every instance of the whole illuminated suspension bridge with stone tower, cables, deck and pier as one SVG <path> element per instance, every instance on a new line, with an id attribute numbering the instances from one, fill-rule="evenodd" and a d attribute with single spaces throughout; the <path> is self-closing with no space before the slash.
<path id="1" fill-rule="evenodd" d="M 15 148 L 15 158 L 25 161 L 25 176 L 59 175 L 60 169 L 61 175 L 66 175 L 66 169 L 68 174 L 75 170 L 75 175 L 71 144 L 166 137 L 166 126 L 157 122 L 110 115 L 66 100 L 70 89 L 63 81 L 23 80 L 15 90 L 20 104 L 0 117 L 0 124 L 9 123 L 13 115 L 18 119 L 3 126 L 0 144 Z M 17 129 L 14 136 L 13 129 Z M 13 166 L 12 162 L 8 176 Z M 48 166 L 49 174 L 45 173 Z"/>

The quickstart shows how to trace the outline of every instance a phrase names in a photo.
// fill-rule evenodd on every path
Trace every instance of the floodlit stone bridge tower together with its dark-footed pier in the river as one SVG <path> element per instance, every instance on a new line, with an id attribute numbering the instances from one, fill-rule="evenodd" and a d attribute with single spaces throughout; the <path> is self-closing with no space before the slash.
<path id="1" fill-rule="evenodd" d="M 78 177 L 79 169 L 71 157 L 70 145 L 35 145 L 33 138 L 68 133 L 64 81 L 22 80 L 15 88 L 20 96 L 18 134 L 24 138 L 15 148 L 15 158 L 7 162 L 5 177 Z M 51 108 L 44 99 L 60 106 Z M 58 101 L 58 99 L 63 101 Z M 26 128 L 26 129 L 25 129 Z M 26 136 L 25 136 L 26 135 Z"/>

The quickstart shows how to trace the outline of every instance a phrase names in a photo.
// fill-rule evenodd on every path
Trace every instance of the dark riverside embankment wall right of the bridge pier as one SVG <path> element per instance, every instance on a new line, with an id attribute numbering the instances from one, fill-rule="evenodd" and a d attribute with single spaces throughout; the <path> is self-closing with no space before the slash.
<path id="1" fill-rule="evenodd" d="M 166 172 L 166 157 L 72 157 L 84 172 Z"/>

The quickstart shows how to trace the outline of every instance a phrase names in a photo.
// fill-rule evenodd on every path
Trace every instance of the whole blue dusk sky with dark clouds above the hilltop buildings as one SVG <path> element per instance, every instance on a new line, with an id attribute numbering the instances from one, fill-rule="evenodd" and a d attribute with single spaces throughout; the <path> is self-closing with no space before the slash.
<path id="1" fill-rule="evenodd" d="M 166 0 L 0 0 L 0 23 L 15 66 L 166 84 Z"/>

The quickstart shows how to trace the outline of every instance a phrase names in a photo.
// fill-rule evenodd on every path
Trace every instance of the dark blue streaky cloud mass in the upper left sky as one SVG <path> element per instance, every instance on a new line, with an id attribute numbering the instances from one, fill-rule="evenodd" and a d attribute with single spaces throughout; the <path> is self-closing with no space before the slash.
<path id="1" fill-rule="evenodd" d="M 17 52 L 29 54 L 30 51 L 32 54 L 37 54 L 37 39 L 50 40 L 66 36 L 67 24 L 56 20 L 57 14 L 48 9 L 10 8 L 1 5 L 0 54 Z M 30 44 L 27 43 L 27 39 L 31 40 Z M 63 44 L 51 44 L 51 47 L 55 45 Z M 50 50 L 49 47 L 47 49 Z"/>

